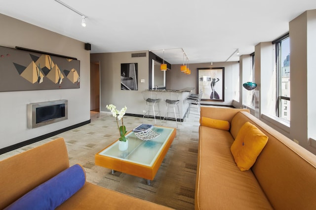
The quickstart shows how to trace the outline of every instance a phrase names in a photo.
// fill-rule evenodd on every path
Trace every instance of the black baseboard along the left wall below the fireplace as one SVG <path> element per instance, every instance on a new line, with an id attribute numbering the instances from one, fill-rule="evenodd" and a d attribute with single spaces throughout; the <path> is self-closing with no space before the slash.
<path id="1" fill-rule="evenodd" d="M 38 137 L 35 137 L 33 139 L 26 140 L 24 142 L 17 143 L 15 145 L 11 145 L 11 146 L 2 148 L 2 149 L 0 149 L 0 154 L 3 154 L 3 153 L 8 152 L 8 151 L 19 149 L 21 147 L 33 144 L 35 142 L 39 142 L 39 141 L 41 141 L 43 139 L 50 138 L 52 136 L 58 135 L 60 133 L 66 132 L 68 130 L 71 130 L 71 129 L 74 129 L 74 128 L 77 128 L 77 127 L 80 127 L 80 126 L 88 124 L 90 122 L 91 122 L 91 120 L 86 120 L 84 122 L 80 122 L 78 124 L 75 124 L 75 125 L 72 125 L 72 126 L 69 126 L 69 127 L 63 128 L 63 129 L 60 129 L 60 130 L 56 130 L 56 131 L 53 131 L 51 133 L 47 133 L 47 134 L 44 134 L 42 136 L 38 136 Z"/>

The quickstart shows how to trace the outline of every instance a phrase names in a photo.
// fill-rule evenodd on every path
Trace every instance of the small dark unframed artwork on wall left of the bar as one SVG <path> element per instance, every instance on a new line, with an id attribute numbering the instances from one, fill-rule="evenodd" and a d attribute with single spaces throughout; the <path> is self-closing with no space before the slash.
<path id="1" fill-rule="evenodd" d="M 120 64 L 120 90 L 138 90 L 137 63 Z"/>

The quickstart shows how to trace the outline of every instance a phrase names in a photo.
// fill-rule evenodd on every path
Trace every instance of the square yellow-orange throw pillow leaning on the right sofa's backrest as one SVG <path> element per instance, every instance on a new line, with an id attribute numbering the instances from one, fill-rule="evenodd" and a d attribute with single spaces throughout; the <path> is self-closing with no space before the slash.
<path id="1" fill-rule="evenodd" d="M 241 171 L 246 171 L 256 162 L 266 146 L 268 136 L 250 122 L 244 123 L 231 146 L 235 162 Z"/>

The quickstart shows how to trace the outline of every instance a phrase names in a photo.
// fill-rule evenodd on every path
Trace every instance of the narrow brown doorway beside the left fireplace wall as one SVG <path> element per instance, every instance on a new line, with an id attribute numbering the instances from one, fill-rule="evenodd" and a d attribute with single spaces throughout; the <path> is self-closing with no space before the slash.
<path id="1" fill-rule="evenodd" d="M 90 62 L 90 111 L 100 112 L 100 62 Z"/>

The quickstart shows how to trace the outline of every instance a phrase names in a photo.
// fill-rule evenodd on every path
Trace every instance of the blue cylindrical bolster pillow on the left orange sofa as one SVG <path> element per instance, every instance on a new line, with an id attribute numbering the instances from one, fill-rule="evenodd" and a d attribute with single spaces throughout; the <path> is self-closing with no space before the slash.
<path id="1" fill-rule="evenodd" d="M 73 165 L 40 184 L 5 210 L 54 210 L 74 195 L 85 183 L 84 169 Z"/>

